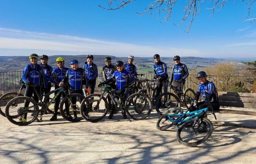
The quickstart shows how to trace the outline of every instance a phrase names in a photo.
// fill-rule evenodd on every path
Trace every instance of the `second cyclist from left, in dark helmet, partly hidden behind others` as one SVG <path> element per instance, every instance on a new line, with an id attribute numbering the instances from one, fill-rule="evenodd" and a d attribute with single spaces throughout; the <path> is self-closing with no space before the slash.
<path id="1" fill-rule="evenodd" d="M 52 74 L 52 66 L 48 65 L 48 56 L 47 55 L 42 55 L 40 56 L 41 59 L 41 67 L 43 69 L 43 73 L 44 73 L 44 78 L 46 83 L 46 88 L 44 90 L 42 90 L 42 94 L 47 94 L 49 93 L 49 91 L 51 90 L 51 83 L 50 83 L 50 75 Z M 49 102 L 49 99 L 47 99 L 47 102 Z"/>

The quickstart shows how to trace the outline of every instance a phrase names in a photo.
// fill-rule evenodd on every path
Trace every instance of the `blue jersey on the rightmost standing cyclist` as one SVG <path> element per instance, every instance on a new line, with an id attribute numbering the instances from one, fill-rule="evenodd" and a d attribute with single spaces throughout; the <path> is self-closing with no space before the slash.
<path id="1" fill-rule="evenodd" d="M 178 81 L 181 78 L 185 79 L 188 77 L 188 68 L 185 64 L 179 63 L 178 65 L 174 65 L 171 73 L 171 82 Z"/>

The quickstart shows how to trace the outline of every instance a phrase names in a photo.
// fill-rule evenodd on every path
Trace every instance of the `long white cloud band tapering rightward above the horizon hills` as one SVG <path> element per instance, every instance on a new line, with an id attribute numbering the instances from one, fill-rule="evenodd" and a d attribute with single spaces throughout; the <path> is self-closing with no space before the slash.
<path id="1" fill-rule="evenodd" d="M 187 48 L 162 47 L 157 45 L 146 46 L 7 28 L 0 28 L 0 48 L 82 52 L 84 54 L 109 54 L 118 56 L 128 54 L 152 56 L 155 53 L 161 54 L 162 56 L 176 54 L 181 56 L 201 55 L 199 50 Z"/>

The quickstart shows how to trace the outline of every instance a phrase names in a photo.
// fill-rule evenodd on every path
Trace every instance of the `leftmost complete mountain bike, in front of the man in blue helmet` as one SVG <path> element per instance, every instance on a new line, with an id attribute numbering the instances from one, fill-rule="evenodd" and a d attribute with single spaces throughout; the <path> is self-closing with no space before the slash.
<path id="1" fill-rule="evenodd" d="M 31 85 L 33 89 L 35 90 L 35 86 Z M 5 115 L 7 119 L 12 122 L 15 125 L 29 125 L 35 120 L 37 120 L 38 115 L 40 115 L 40 120 L 42 121 L 42 116 L 45 114 L 45 111 L 48 110 L 49 106 L 52 104 L 52 102 L 56 99 L 56 97 L 63 91 L 66 90 L 66 86 L 60 87 L 56 90 L 50 91 L 49 93 L 45 95 L 39 95 L 37 90 L 35 90 L 36 95 L 38 96 L 39 102 L 35 102 L 34 99 L 26 96 L 19 96 L 11 99 L 5 108 Z M 57 93 L 54 95 L 54 97 L 51 99 L 50 102 L 46 103 L 45 99 L 49 98 L 50 94 L 53 94 L 54 91 L 57 91 Z M 82 117 L 78 117 L 76 119 L 73 119 L 72 114 L 74 115 L 74 111 L 77 110 L 77 104 L 72 103 L 72 98 L 80 98 L 83 99 L 84 96 L 81 94 L 70 94 L 67 95 L 61 103 L 65 103 L 68 101 L 69 106 L 71 108 L 66 109 L 65 115 L 61 114 L 63 118 L 65 118 L 68 121 L 76 122 L 82 120 Z M 25 107 L 27 106 L 27 107 Z M 41 109 L 39 109 L 39 106 L 41 106 Z M 71 111 L 70 111 L 71 110 Z M 61 110 L 60 110 L 61 111 Z M 63 110 L 61 111 L 63 112 Z M 30 115 L 30 114 L 31 115 Z M 64 113 L 64 112 L 63 112 Z M 21 120 L 27 116 L 26 122 L 22 122 Z"/>

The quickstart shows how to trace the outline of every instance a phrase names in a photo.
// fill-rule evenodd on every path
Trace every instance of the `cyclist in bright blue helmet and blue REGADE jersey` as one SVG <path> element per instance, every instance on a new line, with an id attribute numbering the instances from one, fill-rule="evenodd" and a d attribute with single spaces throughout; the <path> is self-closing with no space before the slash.
<path id="1" fill-rule="evenodd" d="M 63 86 L 64 83 L 69 83 L 69 89 L 68 93 L 73 94 L 73 93 L 78 93 L 83 95 L 83 85 L 88 88 L 88 81 L 87 78 L 84 74 L 84 71 L 82 68 L 78 67 L 78 60 L 72 59 L 70 61 L 70 66 L 71 69 L 67 70 L 67 73 L 63 79 L 62 82 L 59 83 L 59 86 Z M 82 99 L 79 99 L 79 102 L 82 102 Z M 72 103 L 76 104 L 76 97 L 72 99 Z M 75 107 L 76 108 L 76 107 Z M 74 111 L 74 117 L 73 119 L 77 119 L 77 114 L 76 111 Z"/>

